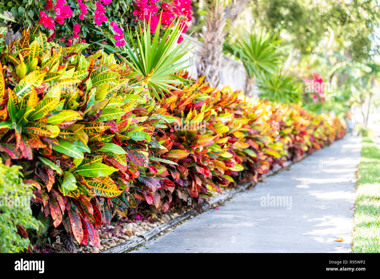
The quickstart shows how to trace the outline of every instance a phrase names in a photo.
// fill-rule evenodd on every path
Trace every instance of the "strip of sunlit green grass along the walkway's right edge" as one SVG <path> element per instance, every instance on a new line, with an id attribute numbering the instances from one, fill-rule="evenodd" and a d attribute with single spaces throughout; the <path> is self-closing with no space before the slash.
<path id="1" fill-rule="evenodd" d="M 380 252 L 380 150 L 363 137 L 358 169 L 353 253 Z"/>

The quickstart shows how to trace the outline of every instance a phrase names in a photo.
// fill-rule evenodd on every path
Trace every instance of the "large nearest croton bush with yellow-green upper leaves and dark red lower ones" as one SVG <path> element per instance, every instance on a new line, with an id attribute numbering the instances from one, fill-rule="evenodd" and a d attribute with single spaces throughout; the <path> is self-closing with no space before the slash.
<path id="1" fill-rule="evenodd" d="M 51 236 L 62 233 L 69 251 L 71 235 L 100 246 L 97 230 L 112 215 L 174 186 L 157 174 L 160 162 L 176 163 L 152 149 L 164 149 L 155 126 L 176 119 L 142 87 L 149 76 L 103 52 L 86 58 L 86 44 L 60 47 L 37 30 L 0 56 L 1 156 L 34 185 L 37 218 L 55 228 Z"/>

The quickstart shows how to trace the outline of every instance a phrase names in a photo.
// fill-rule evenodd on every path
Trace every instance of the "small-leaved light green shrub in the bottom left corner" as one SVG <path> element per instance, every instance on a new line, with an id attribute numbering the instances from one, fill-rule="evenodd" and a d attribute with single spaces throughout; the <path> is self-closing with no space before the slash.
<path id="1" fill-rule="evenodd" d="M 28 250 L 31 246 L 25 229 L 37 229 L 39 225 L 29 207 L 33 187 L 22 181 L 20 168 L 16 165 L 7 167 L 0 159 L 1 253 Z"/>

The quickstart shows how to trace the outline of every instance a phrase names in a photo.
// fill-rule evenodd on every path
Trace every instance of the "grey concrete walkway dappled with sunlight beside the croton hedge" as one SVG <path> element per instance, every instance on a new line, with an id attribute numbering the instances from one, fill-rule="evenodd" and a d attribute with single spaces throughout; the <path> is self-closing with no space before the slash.
<path id="1" fill-rule="evenodd" d="M 361 138 L 347 135 L 132 253 L 350 252 L 360 153 Z M 272 196 L 285 206 L 262 206 Z"/>

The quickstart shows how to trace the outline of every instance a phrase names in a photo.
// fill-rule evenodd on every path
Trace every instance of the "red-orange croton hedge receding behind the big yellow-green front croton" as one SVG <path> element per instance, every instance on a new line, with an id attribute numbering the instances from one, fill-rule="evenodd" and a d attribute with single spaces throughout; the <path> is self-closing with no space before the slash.
<path id="1" fill-rule="evenodd" d="M 156 136 L 165 149 L 155 156 L 178 164 L 167 164 L 160 173 L 176 185 L 155 192 L 155 206 L 163 211 L 188 197 L 198 208 L 236 178 L 257 182 L 274 166 L 345 135 L 345 124 L 337 118 L 248 98 L 228 87 L 216 90 L 202 80 L 172 94 L 162 107 L 177 120 Z"/>

